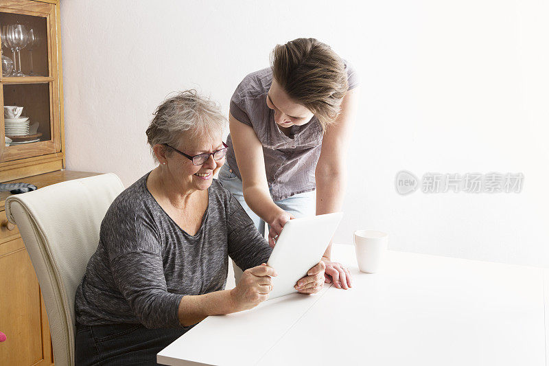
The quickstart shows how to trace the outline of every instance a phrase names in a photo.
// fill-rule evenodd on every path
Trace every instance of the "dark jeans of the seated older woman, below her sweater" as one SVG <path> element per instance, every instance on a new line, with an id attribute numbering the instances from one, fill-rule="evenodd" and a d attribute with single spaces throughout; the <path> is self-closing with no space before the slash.
<path id="1" fill-rule="evenodd" d="M 142 324 L 76 325 L 75 366 L 158 365 L 156 354 L 189 328 Z"/>

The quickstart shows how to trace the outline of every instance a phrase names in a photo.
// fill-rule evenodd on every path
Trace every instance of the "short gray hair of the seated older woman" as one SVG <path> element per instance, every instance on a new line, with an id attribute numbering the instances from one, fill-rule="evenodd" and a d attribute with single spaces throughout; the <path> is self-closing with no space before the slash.
<path id="1" fill-rule="evenodd" d="M 156 108 L 146 133 L 152 151 L 156 144 L 175 147 L 181 137 L 187 134 L 190 138 L 222 135 L 225 126 L 226 117 L 222 115 L 218 104 L 191 89 L 162 102 Z M 152 156 L 154 161 L 158 161 L 154 152 Z"/>

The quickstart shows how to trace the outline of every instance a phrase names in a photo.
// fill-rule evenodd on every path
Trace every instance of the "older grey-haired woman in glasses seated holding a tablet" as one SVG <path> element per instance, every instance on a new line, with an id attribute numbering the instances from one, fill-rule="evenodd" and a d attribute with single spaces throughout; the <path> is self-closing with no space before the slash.
<path id="1" fill-rule="evenodd" d="M 159 166 L 110 205 L 75 299 L 76 365 L 156 365 L 156 353 L 209 315 L 268 299 L 272 249 L 213 175 L 226 120 L 185 91 L 163 102 L 148 130 Z M 245 268 L 224 290 L 228 255 Z M 298 288 L 316 293 L 323 262 Z"/>

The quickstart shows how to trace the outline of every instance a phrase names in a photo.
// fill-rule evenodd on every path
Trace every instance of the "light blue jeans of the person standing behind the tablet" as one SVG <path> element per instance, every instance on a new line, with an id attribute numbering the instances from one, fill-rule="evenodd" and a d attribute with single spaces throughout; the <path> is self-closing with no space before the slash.
<path id="1" fill-rule="evenodd" d="M 261 220 L 257 214 L 255 214 L 250 207 L 244 201 L 244 194 L 242 193 L 242 181 L 238 176 L 229 168 L 228 163 L 224 163 L 219 171 L 218 180 L 236 197 L 237 201 L 240 203 L 246 214 L 250 216 L 259 230 L 259 233 L 262 235 L 265 233 L 265 221 Z M 294 215 L 295 218 L 314 216 L 316 214 L 316 192 L 305 192 L 300 194 L 295 194 L 294 196 L 285 198 L 281 201 L 275 201 L 278 207 L 283 209 L 286 212 Z M 242 270 L 233 262 L 233 268 L 235 270 L 235 281 L 238 283 L 240 276 L 242 275 Z"/>

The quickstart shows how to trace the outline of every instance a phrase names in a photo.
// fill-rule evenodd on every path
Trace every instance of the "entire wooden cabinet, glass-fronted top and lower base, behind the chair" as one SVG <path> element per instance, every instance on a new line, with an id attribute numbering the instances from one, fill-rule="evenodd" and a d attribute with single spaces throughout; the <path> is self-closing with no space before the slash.
<path id="1" fill-rule="evenodd" d="M 0 183 L 40 188 L 97 174 L 63 170 L 58 1 L 1 0 L 0 36 L 0 104 L 23 107 L 19 116 L 0 111 Z M 8 336 L 0 343 L 0 365 L 53 365 L 38 279 L 17 227 L 5 218 L 8 196 L 0 192 L 0 332 Z"/>

